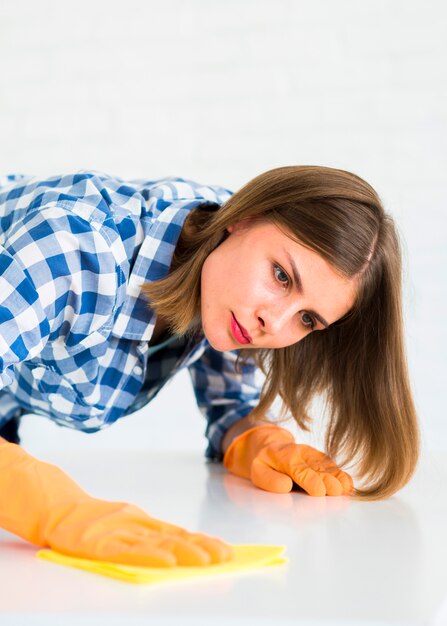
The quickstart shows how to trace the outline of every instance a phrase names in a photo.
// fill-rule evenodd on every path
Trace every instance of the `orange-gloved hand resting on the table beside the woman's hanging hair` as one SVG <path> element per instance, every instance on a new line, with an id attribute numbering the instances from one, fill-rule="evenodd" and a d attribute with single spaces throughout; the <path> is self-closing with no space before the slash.
<path id="1" fill-rule="evenodd" d="M 246 430 L 231 442 L 224 465 L 256 487 L 288 493 L 295 482 L 311 496 L 352 493 L 354 483 L 323 452 L 295 443 L 291 432 L 266 424 Z"/>

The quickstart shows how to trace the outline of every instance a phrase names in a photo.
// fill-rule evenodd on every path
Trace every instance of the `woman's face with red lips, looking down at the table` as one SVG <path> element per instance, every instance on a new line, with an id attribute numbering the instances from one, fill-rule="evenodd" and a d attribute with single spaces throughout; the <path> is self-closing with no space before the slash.
<path id="1" fill-rule="evenodd" d="M 201 277 L 203 331 L 216 350 L 284 348 L 352 307 L 355 280 L 284 230 L 244 221 L 228 231 Z"/>

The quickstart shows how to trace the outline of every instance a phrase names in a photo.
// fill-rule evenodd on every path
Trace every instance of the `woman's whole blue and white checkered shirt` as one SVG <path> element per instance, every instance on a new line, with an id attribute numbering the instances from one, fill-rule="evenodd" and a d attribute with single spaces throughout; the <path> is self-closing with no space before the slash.
<path id="1" fill-rule="evenodd" d="M 253 364 L 202 333 L 148 358 L 156 316 L 141 285 L 165 276 L 192 209 L 222 187 L 182 178 L 124 181 L 80 171 L 0 177 L 0 425 L 23 413 L 96 432 L 188 368 L 207 419 L 206 455 L 259 401 Z"/>

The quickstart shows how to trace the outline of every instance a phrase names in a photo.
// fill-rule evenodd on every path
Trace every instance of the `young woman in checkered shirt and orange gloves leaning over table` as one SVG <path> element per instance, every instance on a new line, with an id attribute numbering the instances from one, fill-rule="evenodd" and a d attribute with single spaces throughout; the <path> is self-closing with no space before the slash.
<path id="1" fill-rule="evenodd" d="M 231 558 L 219 539 L 87 495 L 17 445 L 23 413 L 94 432 L 183 367 L 207 418 L 207 456 L 262 489 L 372 500 L 410 479 L 419 431 L 399 244 L 362 179 L 282 167 L 231 195 L 180 178 L 9 177 L 0 220 L 3 528 L 119 563 Z M 309 430 L 317 396 L 327 456 L 295 443 L 271 410 L 279 398 L 279 417 Z M 340 469 L 349 464 L 357 489 Z"/>

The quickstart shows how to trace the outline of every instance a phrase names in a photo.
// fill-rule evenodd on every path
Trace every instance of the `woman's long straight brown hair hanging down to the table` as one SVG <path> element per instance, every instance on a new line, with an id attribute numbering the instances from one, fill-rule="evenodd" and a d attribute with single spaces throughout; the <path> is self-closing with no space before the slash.
<path id="1" fill-rule="evenodd" d="M 241 350 L 266 376 L 252 417 L 279 396 L 281 417 L 309 431 L 321 395 L 328 424 L 325 452 L 357 465 L 354 497 L 375 500 L 414 473 L 420 434 L 409 385 L 401 300 L 401 254 L 393 220 L 358 176 L 318 166 L 280 167 L 257 176 L 219 208 L 200 207 L 185 223 L 170 272 L 143 292 L 177 333 L 200 326 L 200 276 L 206 257 L 238 221 L 268 220 L 318 252 L 340 274 L 356 277 L 351 311 L 328 329 L 275 350 Z"/>

